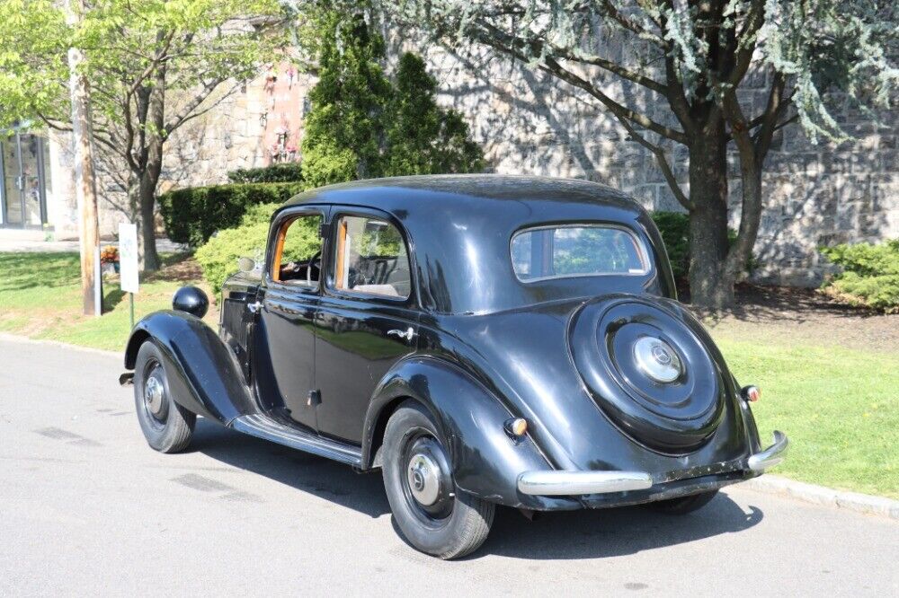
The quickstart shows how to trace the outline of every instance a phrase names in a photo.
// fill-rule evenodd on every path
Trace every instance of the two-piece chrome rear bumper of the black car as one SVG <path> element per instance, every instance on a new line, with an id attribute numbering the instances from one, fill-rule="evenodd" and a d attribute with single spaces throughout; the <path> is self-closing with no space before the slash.
<path id="1" fill-rule="evenodd" d="M 787 435 L 775 432 L 774 444 L 746 459 L 745 469 L 761 472 L 774 467 L 783 461 L 787 445 Z M 522 494 L 542 497 L 628 492 L 652 487 L 653 478 L 645 471 L 536 470 L 525 471 L 518 477 L 518 489 Z"/>

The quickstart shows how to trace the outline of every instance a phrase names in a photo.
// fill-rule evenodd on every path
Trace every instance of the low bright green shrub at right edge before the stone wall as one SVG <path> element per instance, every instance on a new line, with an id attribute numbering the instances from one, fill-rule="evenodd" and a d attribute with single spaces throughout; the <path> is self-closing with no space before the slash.
<path id="1" fill-rule="evenodd" d="M 899 312 L 899 239 L 821 248 L 842 272 L 824 283 L 824 292 L 854 305 Z"/>

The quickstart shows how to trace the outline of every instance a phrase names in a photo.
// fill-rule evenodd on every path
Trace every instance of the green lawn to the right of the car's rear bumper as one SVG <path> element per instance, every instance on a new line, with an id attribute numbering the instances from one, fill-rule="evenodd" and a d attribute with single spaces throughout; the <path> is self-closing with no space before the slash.
<path id="1" fill-rule="evenodd" d="M 774 429 L 789 436 L 772 472 L 899 498 L 899 356 L 715 336 L 737 380 L 761 388 L 762 441 Z"/>

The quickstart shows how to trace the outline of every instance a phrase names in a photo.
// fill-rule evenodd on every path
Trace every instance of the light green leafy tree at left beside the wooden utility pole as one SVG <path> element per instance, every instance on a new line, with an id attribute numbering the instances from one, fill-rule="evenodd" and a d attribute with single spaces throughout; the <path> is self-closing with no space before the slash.
<path id="1" fill-rule="evenodd" d="M 159 266 L 154 216 L 166 142 L 279 48 L 277 0 L 94 0 L 69 26 L 61 3 L 0 0 L 0 127 L 71 130 L 68 48 L 85 52 L 93 142 L 127 189 L 143 267 Z"/>

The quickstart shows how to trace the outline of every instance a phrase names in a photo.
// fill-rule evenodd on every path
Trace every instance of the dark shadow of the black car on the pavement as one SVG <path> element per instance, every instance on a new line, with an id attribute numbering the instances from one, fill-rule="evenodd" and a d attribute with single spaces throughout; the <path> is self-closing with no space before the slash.
<path id="1" fill-rule="evenodd" d="M 262 475 L 370 517 L 390 513 L 379 473 L 358 474 L 342 463 L 243 435 L 200 418 L 191 450 L 232 467 Z M 511 558 L 605 558 L 633 554 L 723 533 L 761 522 L 725 494 L 687 515 L 658 514 L 641 506 L 545 513 L 529 522 L 500 507 L 484 546 L 467 558 L 488 554 Z M 392 519 L 392 518 L 391 518 Z M 393 523 L 396 529 L 396 523 Z"/>

